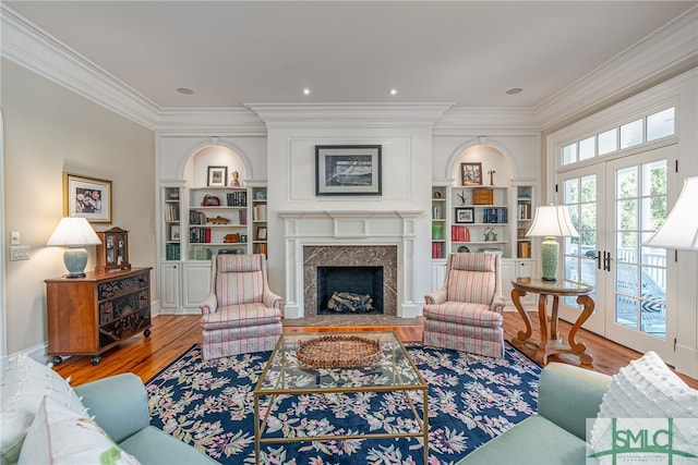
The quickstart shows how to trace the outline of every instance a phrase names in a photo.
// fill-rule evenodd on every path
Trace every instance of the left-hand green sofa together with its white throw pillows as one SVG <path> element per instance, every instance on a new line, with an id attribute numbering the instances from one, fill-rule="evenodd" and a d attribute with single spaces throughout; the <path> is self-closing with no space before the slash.
<path id="1" fill-rule="evenodd" d="M 133 374 L 71 388 L 51 367 L 20 354 L 0 372 L 0 400 L 3 465 L 217 463 L 149 425 L 147 391 Z"/>

